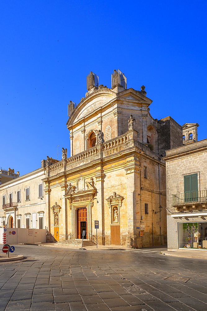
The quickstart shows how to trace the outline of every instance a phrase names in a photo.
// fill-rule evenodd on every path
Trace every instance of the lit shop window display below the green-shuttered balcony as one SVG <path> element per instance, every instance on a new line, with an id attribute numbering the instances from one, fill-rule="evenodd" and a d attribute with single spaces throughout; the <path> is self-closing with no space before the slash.
<path id="1" fill-rule="evenodd" d="M 178 223 L 179 248 L 207 248 L 207 222 Z"/>

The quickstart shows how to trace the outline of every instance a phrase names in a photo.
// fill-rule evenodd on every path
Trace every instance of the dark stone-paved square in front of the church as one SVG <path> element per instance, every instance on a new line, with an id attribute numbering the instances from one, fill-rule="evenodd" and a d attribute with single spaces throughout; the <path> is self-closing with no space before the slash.
<path id="1" fill-rule="evenodd" d="M 26 258 L 0 264 L 1 311 L 207 311 L 205 260 L 152 248 L 15 248 Z"/>

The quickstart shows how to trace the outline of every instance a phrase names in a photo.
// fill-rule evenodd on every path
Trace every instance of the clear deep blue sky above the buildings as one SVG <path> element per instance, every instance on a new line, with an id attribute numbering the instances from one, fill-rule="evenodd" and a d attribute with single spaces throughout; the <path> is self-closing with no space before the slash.
<path id="1" fill-rule="evenodd" d="M 26 174 L 70 146 L 69 100 L 86 76 L 146 86 L 153 118 L 198 123 L 207 137 L 206 1 L 2 1 L 0 166 Z"/>

